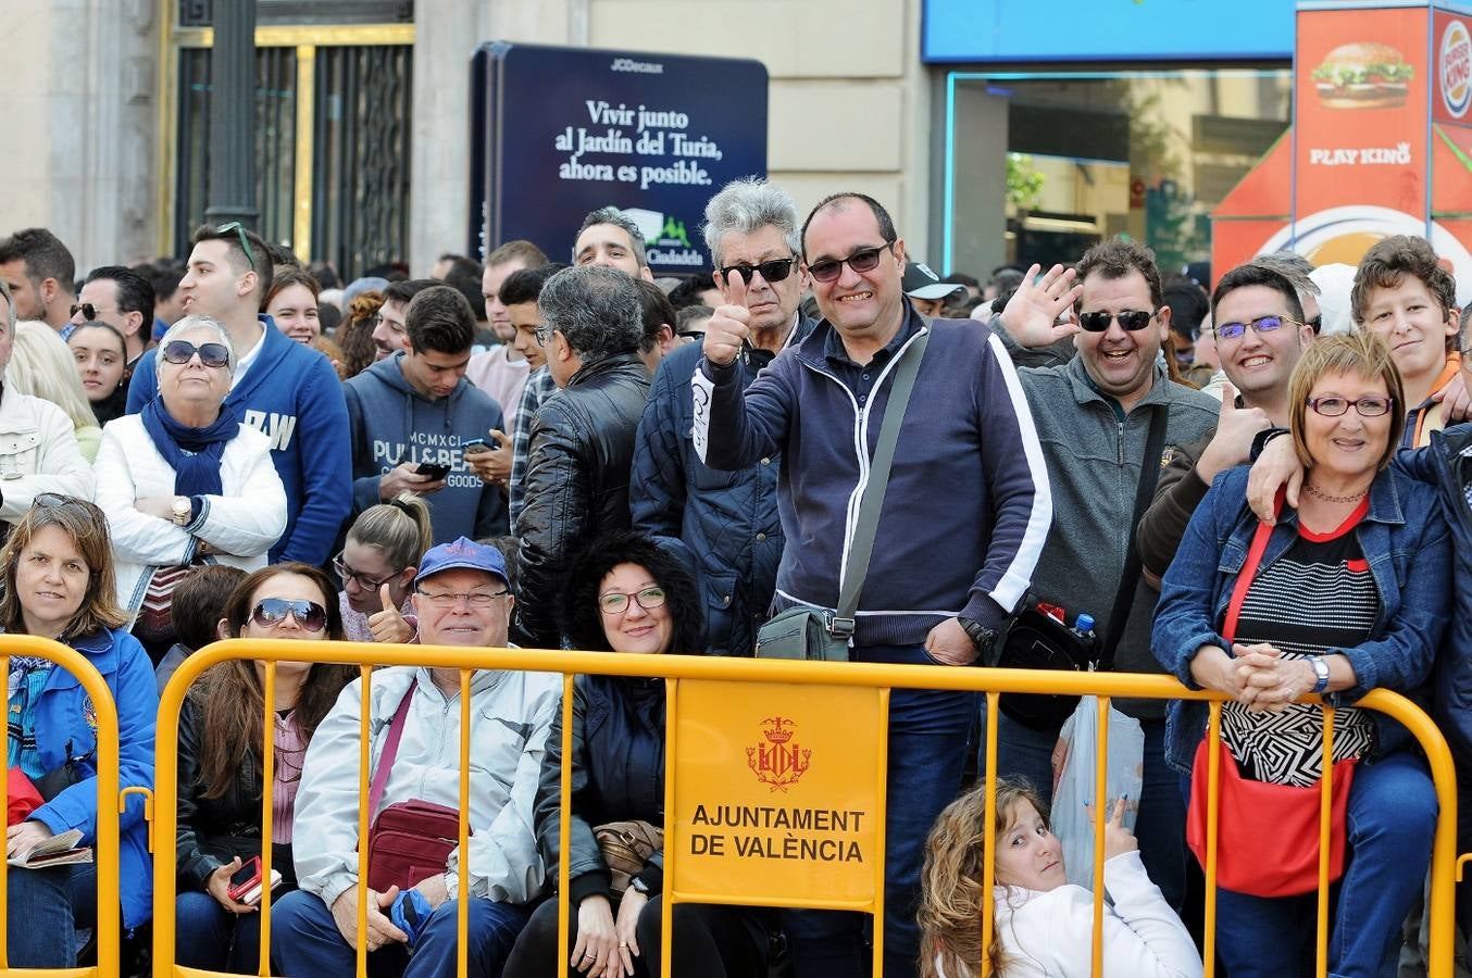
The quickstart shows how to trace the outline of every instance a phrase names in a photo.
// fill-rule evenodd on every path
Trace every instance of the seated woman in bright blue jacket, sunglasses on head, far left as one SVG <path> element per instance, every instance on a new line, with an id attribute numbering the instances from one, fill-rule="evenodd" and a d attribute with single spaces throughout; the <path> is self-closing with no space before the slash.
<path id="1" fill-rule="evenodd" d="M 0 627 L 71 646 L 102 674 L 118 707 L 118 785 L 153 787 L 153 725 L 159 697 L 149 657 L 127 632 L 118 607 L 107 519 L 91 503 L 43 493 L 0 549 Z M 81 831 L 97 844 L 97 718 L 88 696 L 49 659 L 10 656 L 7 718 L 10 768 L 19 768 L 46 803 L 12 825 L 6 854 Z M 110 750 L 110 746 L 109 746 Z M 102 813 L 116 818 L 116 809 Z M 149 827 L 143 800 L 130 799 L 119 819 L 122 927 L 152 916 Z M 74 968 L 77 931 L 96 925 L 94 863 L 6 871 L 10 968 Z"/>

